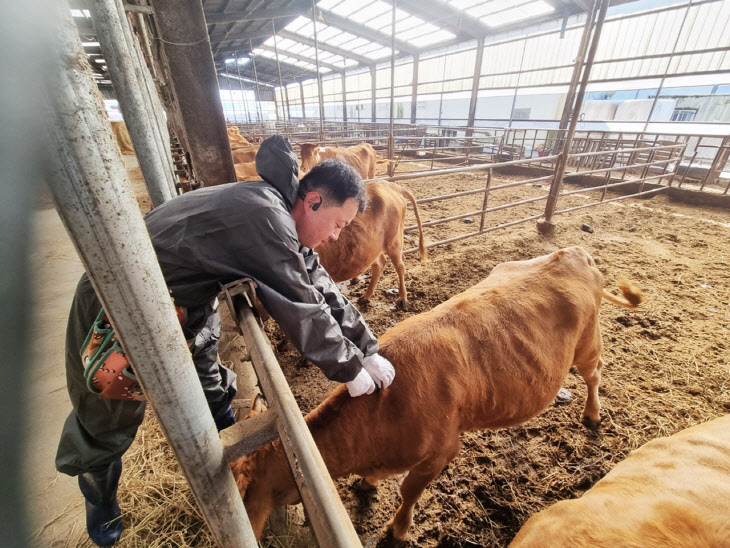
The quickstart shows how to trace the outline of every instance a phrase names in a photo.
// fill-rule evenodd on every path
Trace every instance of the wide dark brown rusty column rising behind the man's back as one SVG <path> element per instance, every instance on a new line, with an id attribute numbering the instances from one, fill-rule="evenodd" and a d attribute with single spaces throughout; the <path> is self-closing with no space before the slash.
<path id="1" fill-rule="evenodd" d="M 155 0 L 152 7 L 179 115 L 171 118 L 181 126 L 176 130 L 195 178 L 206 186 L 235 181 L 203 5 L 200 0 Z"/>

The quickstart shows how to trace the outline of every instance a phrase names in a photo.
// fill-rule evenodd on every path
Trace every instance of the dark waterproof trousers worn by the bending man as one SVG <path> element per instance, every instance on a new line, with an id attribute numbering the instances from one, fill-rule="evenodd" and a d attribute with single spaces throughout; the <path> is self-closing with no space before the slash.
<path id="1" fill-rule="evenodd" d="M 145 402 L 101 399 L 86 387 L 80 348 L 101 304 L 86 274 L 76 288 L 66 330 L 66 382 L 73 411 L 56 453 L 59 472 L 76 476 L 104 469 L 121 458 L 144 418 Z M 193 362 L 214 417 L 236 394 L 236 375 L 218 362 L 220 316 L 216 301 L 187 309 L 183 333 L 192 342 Z"/>

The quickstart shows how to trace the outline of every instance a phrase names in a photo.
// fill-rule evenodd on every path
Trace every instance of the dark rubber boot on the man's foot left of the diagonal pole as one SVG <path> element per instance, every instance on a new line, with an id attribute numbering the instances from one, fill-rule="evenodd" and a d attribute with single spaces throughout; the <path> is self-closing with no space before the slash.
<path id="1" fill-rule="evenodd" d="M 79 488 L 86 499 L 86 530 L 98 546 L 111 546 L 122 536 L 122 511 L 117 502 L 121 474 L 121 460 L 100 472 L 79 474 Z"/>

